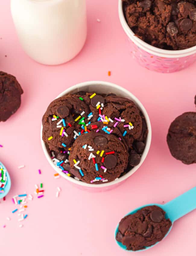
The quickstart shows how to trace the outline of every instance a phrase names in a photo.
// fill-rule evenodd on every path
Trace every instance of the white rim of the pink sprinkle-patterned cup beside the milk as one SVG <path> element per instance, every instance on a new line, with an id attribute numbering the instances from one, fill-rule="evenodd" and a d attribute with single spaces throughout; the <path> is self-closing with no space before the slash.
<path id="1" fill-rule="evenodd" d="M 122 28 L 124 29 L 128 38 L 131 39 L 131 41 L 133 41 L 138 47 L 142 48 L 144 51 L 152 55 L 156 55 L 162 58 L 182 58 L 196 53 L 196 46 L 184 50 L 163 50 L 149 45 L 148 43 L 135 36 L 134 32 L 131 30 L 131 28 L 129 28 L 125 19 L 122 8 L 122 0 L 119 0 L 119 19 Z"/>

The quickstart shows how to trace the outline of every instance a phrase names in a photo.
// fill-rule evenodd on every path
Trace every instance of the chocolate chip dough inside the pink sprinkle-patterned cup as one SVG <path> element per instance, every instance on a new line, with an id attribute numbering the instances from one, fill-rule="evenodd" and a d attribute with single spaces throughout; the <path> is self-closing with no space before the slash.
<path id="1" fill-rule="evenodd" d="M 194 0 L 122 0 L 127 23 L 144 42 L 166 50 L 196 45 Z"/>

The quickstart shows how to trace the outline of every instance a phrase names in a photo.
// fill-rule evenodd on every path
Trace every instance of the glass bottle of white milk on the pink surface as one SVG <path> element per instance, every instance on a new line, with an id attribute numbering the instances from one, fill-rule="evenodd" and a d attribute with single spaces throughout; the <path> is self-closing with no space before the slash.
<path id="1" fill-rule="evenodd" d="M 86 0 L 11 0 L 11 14 L 22 47 L 36 62 L 62 64 L 84 46 Z"/>

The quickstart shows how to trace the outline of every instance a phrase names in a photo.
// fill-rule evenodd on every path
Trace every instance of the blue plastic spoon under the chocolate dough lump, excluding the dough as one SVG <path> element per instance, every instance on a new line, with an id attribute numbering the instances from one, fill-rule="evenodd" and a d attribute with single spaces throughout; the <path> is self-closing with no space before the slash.
<path id="1" fill-rule="evenodd" d="M 171 220 L 172 226 L 173 226 L 174 221 L 176 221 L 177 219 L 181 218 L 185 214 L 196 209 L 196 187 L 190 189 L 189 191 L 187 191 L 184 194 L 180 195 L 179 197 L 173 199 L 172 201 L 169 201 L 166 204 L 146 204 L 141 207 L 138 207 L 137 209 L 135 209 L 133 211 L 130 211 L 127 215 L 134 214 L 136 211 L 140 210 L 141 208 L 146 207 L 146 206 L 151 206 L 151 205 L 156 205 L 156 206 L 162 208 L 166 212 L 165 217 L 169 218 Z M 167 232 L 166 236 L 171 231 L 172 226 L 169 229 L 169 231 Z M 118 231 L 119 231 L 119 224 L 117 225 L 116 230 L 115 230 L 115 238 L 116 238 L 116 234 Z M 116 241 L 116 239 L 115 239 L 115 241 Z M 116 241 L 116 243 L 120 246 L 120 248 L 126 250 L 126 246 L 123 245 L 121 242 Z M 156 244 L 158 244 L 158 243 L 159 242 L 157 242 Z M 147 249 L 150 249 L 153 246 L 155 246 L 156 244 L 148 246 L 145 249 L 139 250 L 139 251 L 145 251 Z"/>

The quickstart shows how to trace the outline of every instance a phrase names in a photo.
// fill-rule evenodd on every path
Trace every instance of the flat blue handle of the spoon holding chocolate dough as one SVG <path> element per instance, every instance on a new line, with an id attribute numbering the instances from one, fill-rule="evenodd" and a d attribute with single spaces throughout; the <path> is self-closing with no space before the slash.
<path id="1" fill-rule="evenodd" d="M 172 222 L 196 209 L 196 187 L 163 205 Z"/>

